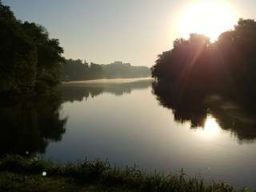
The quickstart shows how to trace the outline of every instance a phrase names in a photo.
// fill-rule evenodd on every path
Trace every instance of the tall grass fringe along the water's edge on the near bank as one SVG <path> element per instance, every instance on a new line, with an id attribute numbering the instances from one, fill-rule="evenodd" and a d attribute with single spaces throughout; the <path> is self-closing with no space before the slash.
<path id="1" fill-rule="evenodd" d="M 130 191 L 177 191 L 177 192 L 234 192 L 234 187 L 224 182 L 206 182 L 200 178 L 187 178 L 181 174 L 147 174 L 134 167 L 120 169 L 109 162 L 85 160 L 63 166 L 37 158 L 5 156 L 0 159 L 0 171 L 18 174 L 35 174 L 47 178 L 70 178 L 79 185 L 101 185 Z M 1 181 L 0 181 L 1 182 Z M 242 190 L 243 192 L 249 190 Z"/>

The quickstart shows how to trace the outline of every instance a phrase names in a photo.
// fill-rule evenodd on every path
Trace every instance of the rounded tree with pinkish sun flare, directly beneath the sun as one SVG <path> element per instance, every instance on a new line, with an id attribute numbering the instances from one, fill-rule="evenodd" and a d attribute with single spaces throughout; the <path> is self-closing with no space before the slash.
<path id="1" fill-rule="evenodd" d="M 206 75 L 204 63 L 209 46 L 210 39 L 202 34 L 190 34 L 187 40 L 175 40 L 172 50 L 158 55 L 151 68 L 152 76 L 173 86 L 197 86 Z"/>

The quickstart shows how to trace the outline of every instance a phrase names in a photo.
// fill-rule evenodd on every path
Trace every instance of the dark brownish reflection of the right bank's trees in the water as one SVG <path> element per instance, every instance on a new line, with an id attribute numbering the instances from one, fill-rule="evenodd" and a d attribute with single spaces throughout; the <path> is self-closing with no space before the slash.
<path id="1" fill-rule="evenodd" d="M 173 111 L 176 122 L 191 122 L 191 128 L 203 127 L 207 115 L 212 114 L 219 126 L 231 131 L 239 142 L 256 139 L 256 115 L 245 98 L 209 97 L 203 91 L 175 90 L 160 82 L 153 83 L 153 92 L 162 106 Z"/>

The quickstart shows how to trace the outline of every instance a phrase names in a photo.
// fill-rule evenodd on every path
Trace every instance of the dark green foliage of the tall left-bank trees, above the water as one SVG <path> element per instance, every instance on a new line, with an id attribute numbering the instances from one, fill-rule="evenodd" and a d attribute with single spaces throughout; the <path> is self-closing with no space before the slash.
<path id="1" fill-rule="evenodd" d="M 0 92 L 24 93 L 55 86 L 62 62 L 58 39 L 46 29 L 21 22 L 0 2 Z"/>

